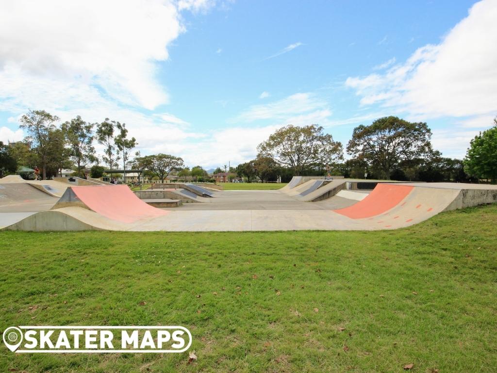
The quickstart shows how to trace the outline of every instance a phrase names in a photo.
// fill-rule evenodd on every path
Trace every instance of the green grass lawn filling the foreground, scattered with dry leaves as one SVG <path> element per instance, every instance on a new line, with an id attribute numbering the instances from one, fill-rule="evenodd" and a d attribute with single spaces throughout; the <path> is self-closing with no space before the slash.
<path id="1" fill-rule="evenodd" d="M 1 372 L 496 370 L 497 205 L 395 231 L 0 232 L 0 242 L 2 330 L 182 325 L 198 357 L 16 355 L 2 344 Z"/>

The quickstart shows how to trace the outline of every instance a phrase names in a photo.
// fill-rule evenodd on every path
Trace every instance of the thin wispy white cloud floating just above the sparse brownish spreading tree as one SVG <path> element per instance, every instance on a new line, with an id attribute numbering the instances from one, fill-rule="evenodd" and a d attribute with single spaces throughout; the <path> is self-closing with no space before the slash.
<path id="1" fill-rule="evenodd" d="M 316 110 L 328 110 L 328 103 L 316 97 L 313 93 L 295 93 L 278 101 L 263 105 L 252 105 L 229 122 L 253 122 L 255 120 L 271 119 L 284 121 L 295 115 L 309 114 Z M 310 123 L 307 123 L 310 124 Z"/>

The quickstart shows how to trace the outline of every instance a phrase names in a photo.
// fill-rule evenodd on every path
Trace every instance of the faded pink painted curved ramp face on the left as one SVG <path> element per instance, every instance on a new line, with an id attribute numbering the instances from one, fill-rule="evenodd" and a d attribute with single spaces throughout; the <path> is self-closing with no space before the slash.
<path id="1" fill-rule="evenodd" d="M 149 206 L 126 185 L 72 187 L 72 189 L 90 210 L 123 223 L 133 223 L 168 213 Z"/>

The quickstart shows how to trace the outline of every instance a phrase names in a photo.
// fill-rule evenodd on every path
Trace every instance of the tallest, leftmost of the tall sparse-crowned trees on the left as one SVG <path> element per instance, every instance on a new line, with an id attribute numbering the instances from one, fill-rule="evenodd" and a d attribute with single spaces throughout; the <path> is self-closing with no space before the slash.
<path id="1" fill-rule="evenodd" d="M 53 141 L 58 138 L 55 133 L 58 129 L 55 123 L 58 121 L 58 116 L 45 110 L 29 110 L 20 119 L 19 127 L 27 132 L 24 141 L 36 155 L 43 180 L 47 179 L 47 169 L 54 163 L 54 156 L 61 153 L 60 141 Z"/>

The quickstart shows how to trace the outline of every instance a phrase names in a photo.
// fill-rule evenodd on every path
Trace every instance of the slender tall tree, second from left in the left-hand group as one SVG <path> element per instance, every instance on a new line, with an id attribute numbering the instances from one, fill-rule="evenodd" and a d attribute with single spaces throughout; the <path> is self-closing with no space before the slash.
<path id="1" fill-rule="evenodd" d="M 85 122 L 79 115 L 62 125 L 69 148 L 71 149 L 71 158 L 78 168 L 78 176 L 81 176 L 81 170 L 89 162 L 95 161 L 93 126 L 94 123 Z"/>

